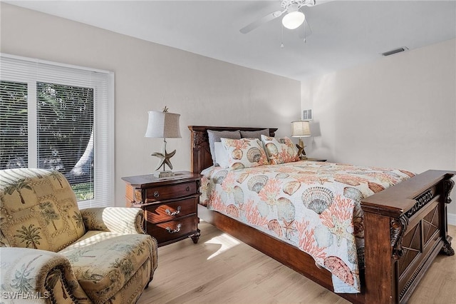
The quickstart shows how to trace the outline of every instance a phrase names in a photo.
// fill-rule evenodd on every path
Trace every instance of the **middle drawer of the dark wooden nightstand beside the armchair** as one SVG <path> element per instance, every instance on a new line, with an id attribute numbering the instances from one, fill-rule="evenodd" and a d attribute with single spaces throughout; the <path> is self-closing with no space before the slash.
<path id="1" fill-rule="evenodd" d="M 199 194 L 180 201 L 157 203 L 145 208 L 145 220 L 150 223 L 162 223 L 197 213 Z"/>

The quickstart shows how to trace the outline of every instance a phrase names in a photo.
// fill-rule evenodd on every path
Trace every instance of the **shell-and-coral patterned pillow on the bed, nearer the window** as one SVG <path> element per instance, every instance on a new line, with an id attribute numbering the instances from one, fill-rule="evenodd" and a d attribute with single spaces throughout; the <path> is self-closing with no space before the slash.
<path id="1" fill-rule="evenodd" d="M 222 138 L 228 153 L 228 168 L 241 169 L 268 164 L 261 141 L 257 138 L 229 139 Z"/>

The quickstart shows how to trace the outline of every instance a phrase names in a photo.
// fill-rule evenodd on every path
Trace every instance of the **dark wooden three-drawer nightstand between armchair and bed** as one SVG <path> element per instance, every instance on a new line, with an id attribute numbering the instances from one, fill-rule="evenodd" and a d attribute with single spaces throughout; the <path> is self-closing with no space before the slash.
<path id="1" fill-rule="evenodd" d="M 122 179 L 127 183 L 127 206 L 144 211 L 144 230 L 159 246 L 188 237 L 198 242 L 199 174 L 179 171 L 167 178 L 146 175 Z"/>

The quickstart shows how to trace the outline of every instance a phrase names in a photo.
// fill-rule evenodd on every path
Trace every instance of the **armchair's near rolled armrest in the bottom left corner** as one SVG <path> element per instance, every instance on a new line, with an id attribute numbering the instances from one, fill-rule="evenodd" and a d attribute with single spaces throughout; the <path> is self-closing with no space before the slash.
<path id="1" fill-rule="evenodd" d="M 11 303 L 91 303 L 68 259 L 46 250 L 0 248 L 1 298 Z"/>

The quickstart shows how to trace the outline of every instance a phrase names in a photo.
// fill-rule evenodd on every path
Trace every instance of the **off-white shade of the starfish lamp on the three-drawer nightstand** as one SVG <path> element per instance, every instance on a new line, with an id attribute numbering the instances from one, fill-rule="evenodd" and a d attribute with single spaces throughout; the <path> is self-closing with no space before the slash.
<path id="1" fill-rule="evenodd" d="M 145 137 L 153 138 L 181 138 L 179 118 L 180 114 L 150 111 L 149 122 Z"/>

